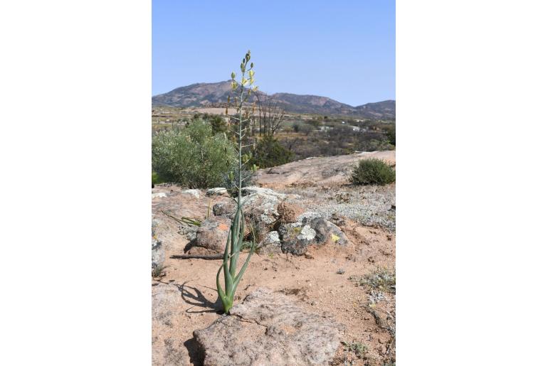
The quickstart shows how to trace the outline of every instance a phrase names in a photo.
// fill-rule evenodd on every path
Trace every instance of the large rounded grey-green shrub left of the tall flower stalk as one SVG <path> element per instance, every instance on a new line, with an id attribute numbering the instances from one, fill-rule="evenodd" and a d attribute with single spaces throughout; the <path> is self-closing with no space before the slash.
<path id="1" fill-rule="evenodd" d="M 211 125 L 201 119 L 152 136 L 152 168 L 165 181 L 189 188 L 217 187 L 235 161 L 233 144 L 222 134 L 212 136 Z"/>

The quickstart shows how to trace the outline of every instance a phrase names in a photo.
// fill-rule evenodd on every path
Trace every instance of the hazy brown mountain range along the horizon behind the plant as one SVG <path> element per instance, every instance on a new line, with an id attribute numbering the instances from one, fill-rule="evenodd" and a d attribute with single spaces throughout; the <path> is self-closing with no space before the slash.
<path id="1" fill-rule="evenodd" d="M 259 92 L 260 95 L 265 95 Z M 178 87 L 152 97 L 152 105 L 168 105 L 171 107 L 211 107 L 221 106 L 226 103 L 228 95 L 232 94 L 231 81 L 200 82 Z M 287 112 L 349 115 L 369 119 L 395 119 L 396 101 L 385 100 L 383 102 L 367 103 L 357 107 L 337 102 L 327 97 L 317 95 L 297 95 L 290 93 L 275 93 L 270 95 L 273 102 Z"/>

